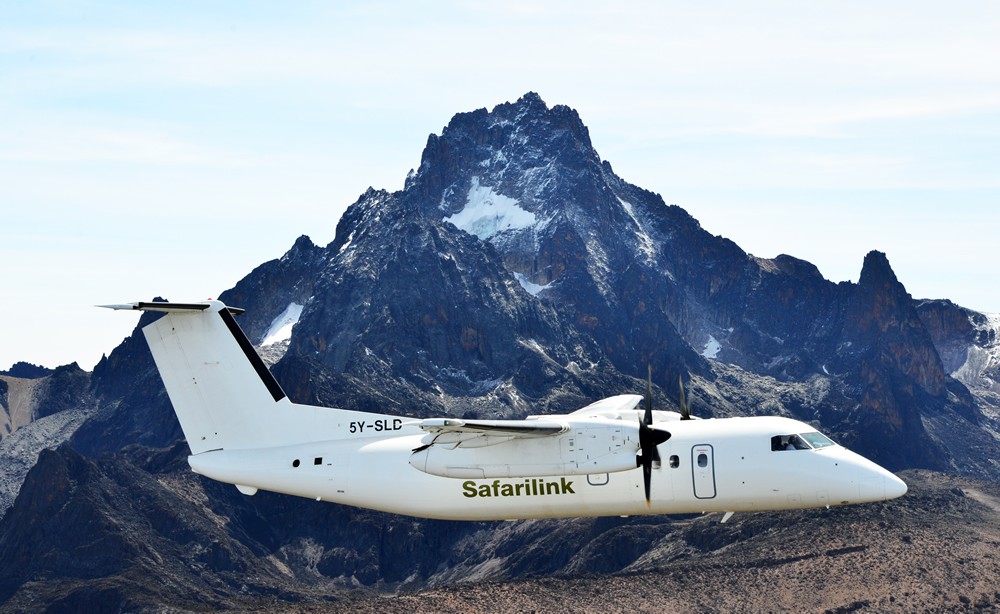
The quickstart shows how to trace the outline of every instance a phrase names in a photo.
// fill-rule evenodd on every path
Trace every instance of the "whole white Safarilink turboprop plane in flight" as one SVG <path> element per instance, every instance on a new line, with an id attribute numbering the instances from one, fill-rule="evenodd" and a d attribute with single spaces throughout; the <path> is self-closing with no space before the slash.
<path id="1" fill-rule="evenodd" d="M 293 403 L 220 301 L 128 303 L 204 476 L 253 495 L 453 520 L 830 507 L 906 484 L 783 417 L 653 411 L 613 396 L 524 420 L 413 419 Z M 641 471 L 639 470 L 641 469 Z"/>

